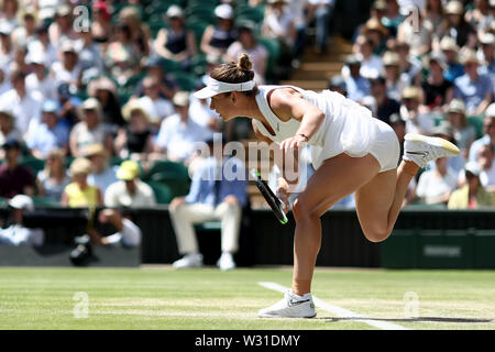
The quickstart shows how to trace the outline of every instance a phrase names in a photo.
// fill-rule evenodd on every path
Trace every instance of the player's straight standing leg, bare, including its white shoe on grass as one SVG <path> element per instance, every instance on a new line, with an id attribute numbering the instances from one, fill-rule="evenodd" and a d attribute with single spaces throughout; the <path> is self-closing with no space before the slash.
<path id="1" fill-rule="evenodd" d="M 294 202 L 294 274 L 292 292 L 277 304 L 261 309 L 260 317 L 306 317 L 316 315 L 310 295 L 316 258 L 321 244 L 320 217 L 336 202 L 367 184 L 381 166 L 372 155 L 340 154 L 315 172 Z"/>

